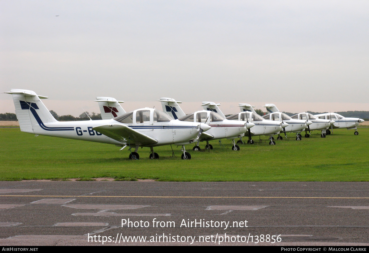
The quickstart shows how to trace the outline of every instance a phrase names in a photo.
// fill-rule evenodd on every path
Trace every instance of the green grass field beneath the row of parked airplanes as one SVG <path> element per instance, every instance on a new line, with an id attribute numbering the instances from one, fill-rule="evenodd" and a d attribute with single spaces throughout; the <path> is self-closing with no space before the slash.
<path id="1" fill-rule="evenodd" d="M 304 136 L 304 133 L 302 134 Z M 210 142 L 214 149 L 186 150 L 192 160 L 181 160 L 180 147 L 154 148 L 159 160 L 149 160 L 149 148 L 139 149 L 141 160 L 128 160 L 129 151 L 114 145 L 48 136 L 34 137 L 19 128 L 0 128 L 0 180 L 31 179 L 156 179 L 160 181 L 369 181 L 369 128 L 359 135 L 346 129 L 320 138 L 296 141 L 294 134 L 270 146 L 266 136 L 254 145 L 232 151 L 231 142 Z M 205 143 L 200 143 L 204 148 Z"/>

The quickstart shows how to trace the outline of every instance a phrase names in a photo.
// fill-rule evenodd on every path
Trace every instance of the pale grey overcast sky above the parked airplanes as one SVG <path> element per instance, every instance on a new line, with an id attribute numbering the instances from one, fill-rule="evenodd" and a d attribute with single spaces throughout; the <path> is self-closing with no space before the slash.
<path id="1" fill-rule="evenodd" d="M 367 0 L 0 0 L 0 92 L 33 90 L 75 116 L 98 112 L 97 96 L 126 111 L 160 97 L 186 113 L 369 110 L 368 13 Z"/>

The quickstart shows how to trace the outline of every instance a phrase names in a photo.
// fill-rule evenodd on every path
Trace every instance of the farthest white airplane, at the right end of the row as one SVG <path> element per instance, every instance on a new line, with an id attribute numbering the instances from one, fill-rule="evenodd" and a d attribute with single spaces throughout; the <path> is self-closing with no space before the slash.
<path id="1" fill-rule="evenodd" d="M 364 122 L 363 119 L 360 118 L 345 118 L 342 115 L 339 115 L 335 112 L 327 112 L 322 114 L 316 114 L 315 117 L 319 119 L 328 119 L 333 120 L 334 124 L 332 125 L 333 128 L 347 128 L 347 129 L 355 129 L 354 134 L 358 135 L 358 128 L 357 126 Z M 328 130 L 329 131 L 329 130 Z M 327 132 L 327 134 L 331 134 L 331 132 Z"/>

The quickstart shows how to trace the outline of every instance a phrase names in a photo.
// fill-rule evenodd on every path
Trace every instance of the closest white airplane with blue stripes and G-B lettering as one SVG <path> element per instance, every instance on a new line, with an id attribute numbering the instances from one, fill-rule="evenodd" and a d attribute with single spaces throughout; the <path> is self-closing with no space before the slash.
<path id="1" fill-rule="evenodd" d="M 130 159 L 139 159 L 140 146 L 149 147 L 150 159 L 158 159 L 153 147 L 161 145 L 181 145 L 182 159 L 191 159 L 184 145 L 196 142 L 201 133 L 210 129 L 206 124 L 173 120 L 165 113 L 142 108 L 125 113 L 114 119 L 59 122 L 52 117 L 34 91 L 12 89 L 15 112 L 23 132 L 61 138 L 114 144 L 135 148 Z"/>

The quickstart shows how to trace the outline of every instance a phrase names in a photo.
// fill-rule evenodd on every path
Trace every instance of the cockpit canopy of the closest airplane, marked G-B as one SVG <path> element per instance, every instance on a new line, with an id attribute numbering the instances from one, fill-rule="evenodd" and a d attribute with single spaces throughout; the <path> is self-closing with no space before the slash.
<path id="1" fill-rule="evenodd" d="M 152 114 L 151 114 L 152 112 Z M 133 124 L 135 123 L 151 123 L 151 122 L 169 122 L 173 120 L 166 113 L 159 110 L 140 109 L 131 112 L 127 112 L 123 115 L 115 117 L 114 120 L 124 123 Z"/>

